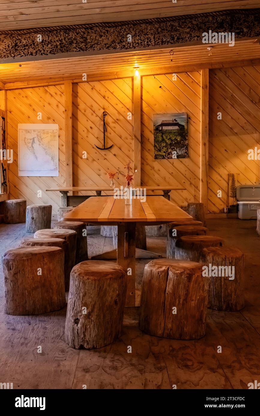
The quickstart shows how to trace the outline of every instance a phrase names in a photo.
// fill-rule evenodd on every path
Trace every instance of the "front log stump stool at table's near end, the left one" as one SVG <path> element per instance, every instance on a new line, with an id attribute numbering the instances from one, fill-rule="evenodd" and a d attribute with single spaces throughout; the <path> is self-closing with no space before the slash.
<path id="1" fill-rule="evenodd" d="M 113 262 L 88 260 L 73 267 L 65 324 L 72 348 L 94 349 L 120 337 L 127 276 Z"/>

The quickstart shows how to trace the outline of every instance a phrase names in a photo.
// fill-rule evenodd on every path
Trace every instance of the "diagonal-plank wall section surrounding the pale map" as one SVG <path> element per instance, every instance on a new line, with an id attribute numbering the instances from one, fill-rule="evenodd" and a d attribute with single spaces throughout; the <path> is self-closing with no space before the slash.
<path id="1" fill-rule="evenodd" d="M 10 198 L 24 198 L 27 204 L 51 204 L 52 215 L 60 206 L 60 193 L 45 192 L 47 188 L 65 186 L 64 155 L 64 87 L 37 87 L 7 91 L 8 147 L 13 149 L 13 163 L 8 163 Z M 42 113 L 42 120 L 37 113 Z M 18 176 L 18 124 L 57 123 L 59 125 L 59 176 Z M 42 191 L 42 198 L 37 191 Z"/>

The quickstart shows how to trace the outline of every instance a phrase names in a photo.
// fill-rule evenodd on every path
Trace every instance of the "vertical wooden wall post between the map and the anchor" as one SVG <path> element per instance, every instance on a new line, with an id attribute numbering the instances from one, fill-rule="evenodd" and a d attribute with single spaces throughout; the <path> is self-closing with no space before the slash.
<path id="1" fill-rule="evenodd" d="M 66 186 L 73 186 L 72 171 L 72 82 L 64 82 L 65 103 L 65 180 Z"/>

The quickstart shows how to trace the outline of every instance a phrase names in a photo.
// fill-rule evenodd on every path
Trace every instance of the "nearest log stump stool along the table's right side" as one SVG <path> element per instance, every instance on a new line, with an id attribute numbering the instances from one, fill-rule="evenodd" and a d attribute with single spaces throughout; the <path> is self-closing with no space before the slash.
<path id="1" fill-rule="evenodd" d="M 208 267 L 208 270 L 203 271 L 208 289 L 208 307 L 220 311 L 243 309 L 245 302 L 242 251 L 238 248 L 208 247 L 202 250 L 202 260 Z"/>

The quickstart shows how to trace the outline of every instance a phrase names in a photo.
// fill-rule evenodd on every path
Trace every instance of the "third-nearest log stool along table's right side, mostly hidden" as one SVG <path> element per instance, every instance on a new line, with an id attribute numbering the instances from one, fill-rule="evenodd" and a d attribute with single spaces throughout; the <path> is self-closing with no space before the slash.
<path id="1" fill-rule="evenodd" d="M 200 227 L 197 225 L 179 225 L 178 227 L 169 228 L 169 233 L 167 236 L 166 257 L 170 259 L 175 258 L 175 244 L 178 238 L 183 237 L 184 235 L 206 235 L 207 233 L 208 228 Z"/>

